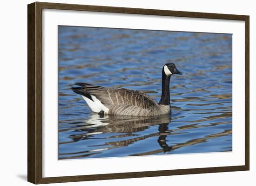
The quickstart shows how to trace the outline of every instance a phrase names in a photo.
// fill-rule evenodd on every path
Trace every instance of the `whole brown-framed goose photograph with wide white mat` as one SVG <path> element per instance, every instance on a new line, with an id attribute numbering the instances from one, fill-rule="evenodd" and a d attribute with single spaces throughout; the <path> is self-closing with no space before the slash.
<path id="1" fill-rule="evenodd" d="M 28 181 L 249 170 L 249 16 L 28 5 Z"/>

